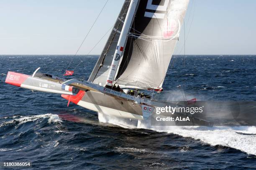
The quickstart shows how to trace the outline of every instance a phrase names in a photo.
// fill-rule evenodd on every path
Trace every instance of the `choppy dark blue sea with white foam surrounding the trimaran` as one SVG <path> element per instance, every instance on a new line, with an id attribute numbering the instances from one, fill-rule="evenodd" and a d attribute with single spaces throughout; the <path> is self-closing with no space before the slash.
<path id="1" fill-rule="evenodd" d="M 1 170 L 256 169 L 256 127 L 150 127 L 98 117 L 60 95 L 5 84 L 8 71 L 88 79 L 98 56 L 0 55 Z M 169 100 L 256 100 L 256 55 L 174 56 L 161 94 Z M 217 106 L 216 106 L 217 107 Z M 145 125 L 148 127 L 148 125 Z M 239 133 L 240 132 L 240 133 Z M 245 135 L 246 134 L 246 135 Z"/>

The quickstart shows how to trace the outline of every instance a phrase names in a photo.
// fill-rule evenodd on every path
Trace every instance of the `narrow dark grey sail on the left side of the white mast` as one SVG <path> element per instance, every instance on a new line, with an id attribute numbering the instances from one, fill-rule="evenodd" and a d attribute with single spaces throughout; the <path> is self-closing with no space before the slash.
<path id="1" fill-rule="evenodd" d="M 108 41 L 106 42 L 105 47 L 102 50 L 102 53 L 88 79 L 89 82 L 93 82 L 99 85 L 105 85 L 105 82 L 108 77 L 109 67 L 115 54 L 115 49 L 117 47 L 120 32 L 123 28 L 123 23 L 125 21 L 129 5 L 130 0 L 125 0 L 123 7 L 118 15 L 118 18 L 115 22 L 113 30 L 111 31 L 110 36 L 108 37 Z"/>

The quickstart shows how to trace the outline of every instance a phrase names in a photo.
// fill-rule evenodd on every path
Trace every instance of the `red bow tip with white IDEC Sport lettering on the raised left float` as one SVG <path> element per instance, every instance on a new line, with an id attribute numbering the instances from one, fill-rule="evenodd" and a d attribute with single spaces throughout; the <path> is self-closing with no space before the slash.
<path id="1" fill-rule="evenodd" d="M 18 72 L 11 72 L 8 71 L 7 77 L 5 79 L 5 83 L 8 83 L 10 85 L 15 85 L 20 87 L 20 85 L 27 80 L 29 75 L 24 75 Z"/>

